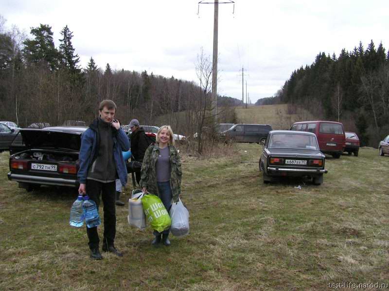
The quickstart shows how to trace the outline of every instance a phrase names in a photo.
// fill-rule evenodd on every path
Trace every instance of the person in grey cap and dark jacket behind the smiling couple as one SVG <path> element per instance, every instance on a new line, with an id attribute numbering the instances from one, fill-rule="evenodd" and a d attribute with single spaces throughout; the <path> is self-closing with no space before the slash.
<path id="1" fill-rule="evenodd" d="M 131 120 L 129 127 L 131 129 L 131 153 L 135 161 L 143 162 L 144 153 L 149 146 L 146 133 L 144 132 L 144 129 L 140 127 L 137 119 Z M 139 181 L 141 180 L 141 173 L 135 172 L 135 177 L 139 184 Z"/>

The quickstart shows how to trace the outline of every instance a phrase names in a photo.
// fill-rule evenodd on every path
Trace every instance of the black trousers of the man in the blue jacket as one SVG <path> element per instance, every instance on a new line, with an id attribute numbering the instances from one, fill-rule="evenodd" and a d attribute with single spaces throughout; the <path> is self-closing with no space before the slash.
<path id="1" fill-rule="evenodd" d="M 87 195 L 91 200 L 96 203 L 97 209 L 100 204 L 100 193 L 103 200 L 103 211 L 104 211 L 104 242 L 107 245 L 113 245 L 116 235 L 116 208 L 115 208 L 115 192 L 116 183 L 115 181 L 109 183 L 102 183 L 99 181 L 87 179 Z M 88 228 L 88 245 L 90 249 L 99 247 L 99 234 L 97 233 L 97 226 Z"/>

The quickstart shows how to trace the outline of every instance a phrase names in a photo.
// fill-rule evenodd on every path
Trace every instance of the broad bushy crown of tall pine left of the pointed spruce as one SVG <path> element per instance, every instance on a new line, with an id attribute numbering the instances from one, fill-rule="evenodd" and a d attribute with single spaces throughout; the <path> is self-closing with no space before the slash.
<path id="1" fill-rule="evenodd" d="M 31 28 L 34 39 L 26 39 L 23 43 L 23 55 L 27 62 L 39 64 L 42 61 L 54 71 L 58 68 L 58 51 L 54 47 L 53 32 L 51 26 L 40 24 Z"/>

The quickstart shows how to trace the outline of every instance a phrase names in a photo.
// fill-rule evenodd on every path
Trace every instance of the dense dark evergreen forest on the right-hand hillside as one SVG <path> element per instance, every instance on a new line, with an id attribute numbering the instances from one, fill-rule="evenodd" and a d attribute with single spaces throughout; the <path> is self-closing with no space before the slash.
<path id="1" fill-rule="evenodd" d="M 265 103 L 299 105 L 317 118 L 339 120 L 363 145 L 376 147 L 389 134 L 389 53 L 372 40 L 366 49 L 360 42 L 339 56 L 320 52 Z"/>

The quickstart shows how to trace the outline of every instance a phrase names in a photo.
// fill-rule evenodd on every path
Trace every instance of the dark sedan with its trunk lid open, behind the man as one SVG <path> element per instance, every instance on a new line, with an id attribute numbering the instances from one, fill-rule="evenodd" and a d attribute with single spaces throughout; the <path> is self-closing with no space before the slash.
<path id="1" fill-rule="evenodd" d="M 40 185 L 78 187 L 78 154 L 87 127 L 20 129 L 10 147 L 8 178 L 31 191 Z"/>

